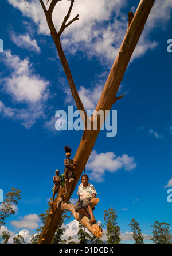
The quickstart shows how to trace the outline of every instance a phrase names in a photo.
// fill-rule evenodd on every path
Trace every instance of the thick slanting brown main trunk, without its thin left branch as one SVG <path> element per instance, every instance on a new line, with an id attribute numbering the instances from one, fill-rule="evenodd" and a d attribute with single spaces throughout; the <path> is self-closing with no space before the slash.
<path id="1" fill-rule="evenodd" d="M 112 66 L 110 74 L 107 78 L 107 82 L 105 83 L 103 92 L 96 107 L 97 112 L 99 110 L 103 110 L 105 113 L 106 110 L 111 110 L 112 105 L 116 102 L 116 100 L 118 100 L 118 98 L 116 98 L 116 93 L 118 92 L 120 82 L 122 81 L 124 72 L 126 71 L 127 65 L 130 62 L 132 53 L 134 52 L 136 44 L 138 43 L 140 35 L 142 34 L 144 25 L 146 24 L 148 15 L 150 14 L 154 2 L 155 0 L 141 0 L 132 20 L 131 18 L 128 19 L 129 22 L 126 36 L 124 37 L 122 46 L 120 47 L 114 65 Z M 57 44 L 58 37 L 53 36 L 53 39 L 54 43 Z M 94 122 L 95 118 L 96 114 L 93 114 L 91 119 L 92 123 Z M 77 164 L 77 167 L 73 167 L 75 178 L 73 180 L 73 184 L 67 191 L 67 194 L 64 198 L 64 203 L 69 201 L 73 191 L 75 190 L 77 182 L 80 179 L 80 176 L 92 152 L 93 146 L 95 145 L 100 129 L 101 127 L 98 126 L 97 130 L 87 130 L 87 127 L 85 126 L 83 137 L 81 138 L 79 148 L 77 149 L 76 155 L 73 159 L 73 163 Z M 64 193 L 63 188 L 61 188 L 60 193 Z M 48 216 L 40 239 L 38 240 L 38 244 L 50 244 L 54 233 L 56 232 L 63 212 L 62 209 L 57 208 L 57 202 L 60 198 L 60 193 L 58 193 L 57 198 L 54 201 L 53 215 Z"/>

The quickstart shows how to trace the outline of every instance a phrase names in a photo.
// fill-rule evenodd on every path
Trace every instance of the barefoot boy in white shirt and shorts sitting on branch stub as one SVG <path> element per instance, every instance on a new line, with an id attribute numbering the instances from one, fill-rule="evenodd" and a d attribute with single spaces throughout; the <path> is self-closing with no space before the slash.
<path id="1" fill-rule="evenodd" d="M 78 187 L 77 195 L 79 195 L 79 199 L 76 202 L 74 209 L 76 212 L 87 216 L 90 221 L 89 223 L 96 223 L 95 216 L 93 214 L 92 206 L 91 206 L 91 199 L 95 198 L 97 193 L 95 188 L 92 184 L 88 183 L 88 176 L 82 175 L 81 176 L 81 184 Z"/>

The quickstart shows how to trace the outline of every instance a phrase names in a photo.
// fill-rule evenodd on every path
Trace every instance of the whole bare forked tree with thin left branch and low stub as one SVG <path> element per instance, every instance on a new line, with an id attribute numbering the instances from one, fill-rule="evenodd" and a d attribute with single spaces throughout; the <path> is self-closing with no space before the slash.
<path id="1" fill-rule="evenodd" d="M 56 232 L 56 229 L 58 228 L 58 223 L 60 222 L 63 210 L 65 209 L 65 210 L 72 211 L 72 209 L 70 208 L 71 206 L 67 205 L 67 203 L 71 198 L 73 191 L 75 190 L 75 187 L 77 185 L 77 182 L 80 179 L 80 176 L 84 170 L 85 165 L 87 164 L 87 161 L 92 152 L 93 146 L 95 145 L 97 136 L 99 135 L 99 132 L 101 129 L 102 124 L 100 124 L 100 115 L 98 113 L 99 111 L 103 111 L 104 116 L 106 116 L 107 110 L 110 111 L 112 105 L 115 104 L 116 101 L 119 100 L 121 97 L 123 97 L 123 95 L 120 97 L 116 97 L 116 94 L 118 92 L 120 83 L 122 81 L 122 78 L 128 66 L 128 63 L 130 62 L 132 53 L 134 52 L 136 44 L 138 43 L 140 35 L 142 34 L 144 25 L 146 24 L 148 15 L 150 14 L 151 8 L 153 7 L 155 0 L 141 0 L 135 14 L 133 15 L 132 12 L 128 13 L 128 29 L 127 29 L 126 35 L 124 37 L 122 45 L 120 46 L 114 65 L 112 66 L 110 74 L 107 78 L 107 82 L 105 83 L 103 92 L 101 93 L 96 110 L 91 116 L 91 118 L 88 118 L 87 113 L 83 107 L 83 103 L 81 102 L 79 94 L 77 93 L 77 89 L 75 87 L 75 83 L 72 78 L 71 70 L 69 68 L 67 59 L 65 58 L 65 54 L 64 54 L 64 51 L 62 50 L 62 46 L 60 42 L 60 36 L 64 31 L 64 29 L 66 29 L 69 25 L 71 25 L 73 22 L 79 19 L 78 18 L 79 14 L 78 14 L 75 18 L 73 18 L 73 20 L 68 22 L 68 19 L 72 11 L 74 0 L 71 0 L 71 6 L 69 7 L 67 16 L 65 16 L 64 21 L 62 22 L 59 32 L 57 32 L 56 28 L 54 27 L 54 24 L 52 21 L 52 13 L 56 4 L 62 0 L 52 0 L 50 2 L 48 10 L 46 9 L 44 2 L 42 0 L 39 0 L 39 1 L 41 3 L 42 9 L 44 10 L 46 20 L 48 22 L 48 26 L 50 29 L 50 34 L 52 35 L 54 44 L 56 45 L 58 55 L 60 57 L 60 61 L 62 63 L 62 66 L 64 67 L 64 71 L 67 76 L 69 86 L 71 88 L 73 99 L 75 100 L 76 106 L 80 111 L 81 118 L 83 119 L 83 123 L 85 125 L 83 137 L 81 138 L 81 142 L 77 149 L 76 155 L 73 158 L 73 163 L 77 164 L 76 167 L 73 167 L 73 173 L 75 175 L 75 178 L 74 180 L 72 180 L 71 185 L 68 186 L 68 190 L 67 190 L 67 194 L 65 195 L 65 198 L 61 197 L 61 193 L 64 193 L 63 188 L 61 188 L 60 193 L 58 193 L 54 201 L 52 210 L 48 218 L 46 219 L 45 226 L 38 240 L 38 244 L 50 244 Z M 92 126 L 94 122 L 98 121 L 97 130 L 88 129 L 87 127 L 88 119 L 91 122 Z M 76 219 L 81 221 L 81 223 L 83 218 L 86 218 L 86 217 L 81 216 L 81 218 L 79 217 L 79 219 L 78 219 L 78 216 L 76 217 Z M 85 221 L 83 222 L 85 223 Z M 85 224 L 85 227 L 87 227 L 88 230 L 91 231 L 87 223 Z M 97 228 L 97 230 L 98 229 L 99 228 Z M 99 234 L 96 234 L 96 236 L 98 237 L 101 236 L 101 229 L 99 229 Z"/>

